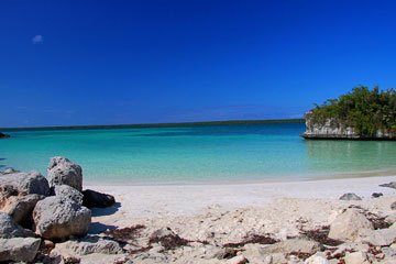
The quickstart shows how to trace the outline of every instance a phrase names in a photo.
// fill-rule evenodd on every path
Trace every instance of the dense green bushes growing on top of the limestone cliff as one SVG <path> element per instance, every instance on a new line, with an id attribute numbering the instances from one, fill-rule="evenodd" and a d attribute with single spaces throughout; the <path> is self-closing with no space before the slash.
<path id="1" fill-rule="evenodd" d="M 361 136 L 375 136 L 377 131 L 396 133 L 396 91 L 394 88 L 372 90 L 356 86 L 352 92 L 329 99 L 306 114 L 312 123 L 324 124 L 328 119 L 341 127 L 351 127 Z"/>

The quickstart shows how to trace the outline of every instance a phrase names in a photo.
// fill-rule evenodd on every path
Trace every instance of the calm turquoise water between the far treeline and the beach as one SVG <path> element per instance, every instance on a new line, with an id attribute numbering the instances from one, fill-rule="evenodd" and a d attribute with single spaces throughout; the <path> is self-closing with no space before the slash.
<path id="1" fill-rule="evenodd" d="M 396 172 L 396 142 L 306 141 L 305 124 L 9 131 L 0 169 L 46 175 L 51 156 L 81 165 L 85 182 L 196 184 Z"/>

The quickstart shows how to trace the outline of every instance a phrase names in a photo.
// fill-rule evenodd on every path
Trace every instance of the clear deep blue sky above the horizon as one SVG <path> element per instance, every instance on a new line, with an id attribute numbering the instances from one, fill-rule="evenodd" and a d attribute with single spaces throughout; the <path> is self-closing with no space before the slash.
<path id="1" fill-rule="evenodd" d="M 396 78 L 396 1 L 2 0 L 0 127 L 301 118 Z"/>

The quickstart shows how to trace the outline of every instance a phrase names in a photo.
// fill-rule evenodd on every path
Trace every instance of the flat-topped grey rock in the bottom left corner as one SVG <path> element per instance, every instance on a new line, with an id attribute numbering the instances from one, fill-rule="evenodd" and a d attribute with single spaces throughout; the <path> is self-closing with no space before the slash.
<path id="1" fill-rule="evenodd" d="M 41 239 L 0 239 L 0 262 L 31 262 L 34 260 Z"/>

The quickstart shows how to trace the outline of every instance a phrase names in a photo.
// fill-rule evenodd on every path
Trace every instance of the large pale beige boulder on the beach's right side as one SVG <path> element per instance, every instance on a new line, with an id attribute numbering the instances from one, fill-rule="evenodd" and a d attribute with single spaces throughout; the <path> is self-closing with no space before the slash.
<path id="1" fill-rule="evenodd" d="M 353 242 L 362 229 L 374 229 L 374 227 L 358 209 L 350 208 L 339 215 L 330 224 L 329 238 Z"/>

